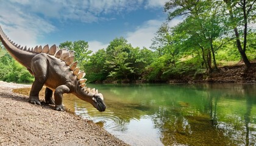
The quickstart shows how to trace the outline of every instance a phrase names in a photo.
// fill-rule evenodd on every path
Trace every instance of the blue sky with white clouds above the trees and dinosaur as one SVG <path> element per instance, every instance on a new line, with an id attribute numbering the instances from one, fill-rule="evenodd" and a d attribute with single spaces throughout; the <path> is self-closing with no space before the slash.
<path id="1" fill-rule="evenodd" d="M 0 0 L 0 25 L 12 41 L 27 47 L 84 40 L 96 52 L 123 36 L 133 47 L 149 48 L 166 22 L 166 1 Z"/>

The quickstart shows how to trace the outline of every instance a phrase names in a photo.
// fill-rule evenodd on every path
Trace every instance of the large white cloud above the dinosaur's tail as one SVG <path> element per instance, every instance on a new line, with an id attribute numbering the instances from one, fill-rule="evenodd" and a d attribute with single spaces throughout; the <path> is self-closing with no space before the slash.
<path id="1" fill-rule="evenodd" d="M 24 13 L 19 7 L 7 1 L 1 2 L 0 13 L 0 24 L 5 34 L 21 46 L 35 47 L 40 36 L 55 29 L 44 19 Z"/>

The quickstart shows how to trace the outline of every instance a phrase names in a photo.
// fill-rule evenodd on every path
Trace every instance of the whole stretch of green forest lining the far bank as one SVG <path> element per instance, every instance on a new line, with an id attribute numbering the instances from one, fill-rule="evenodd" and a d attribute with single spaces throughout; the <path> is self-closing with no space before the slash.
<path id="1" fill-rule="evenodd" d="M 218 72 L 221 66 L 256 60 L 255 0 L 169 1 L 166 22 L 155 32 L 150 48 L 134 47 L 124 37 L 107 48 L 88 50 L 85 40 L 66 41 L 59 48 L 75 58 L 89 82 L 168 82 L 171 78 Z M 182 23 L 170 27 L 174 18 Z M 143 38 L 141 38 L 143 39 Z M 0 45 L 0 80 L 31 83 L 34 78 Z"/>

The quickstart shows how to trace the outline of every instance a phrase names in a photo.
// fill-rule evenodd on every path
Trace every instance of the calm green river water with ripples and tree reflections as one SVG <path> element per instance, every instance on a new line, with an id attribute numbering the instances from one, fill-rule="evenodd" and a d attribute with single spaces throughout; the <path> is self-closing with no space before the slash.
<path id="1" fill-rule="evenodd" d="M 65 106 L 130 145 L 256 145 L 256 85 L 93 85 L 107 110 Z"/>

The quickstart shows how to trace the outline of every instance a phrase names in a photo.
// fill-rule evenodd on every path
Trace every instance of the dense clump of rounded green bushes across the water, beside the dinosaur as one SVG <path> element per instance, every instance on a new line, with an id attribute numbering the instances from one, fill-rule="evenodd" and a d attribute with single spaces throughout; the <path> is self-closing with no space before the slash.
<path id="1" fill-rule="evenodd" d="M 156 57 L 151 50 L 133 48 L 120 37 L 111 41 L 106 49 L 91 55 L 84 68 L 90 82 L 134 82 L 142 78 L 146 66 Z"/>

